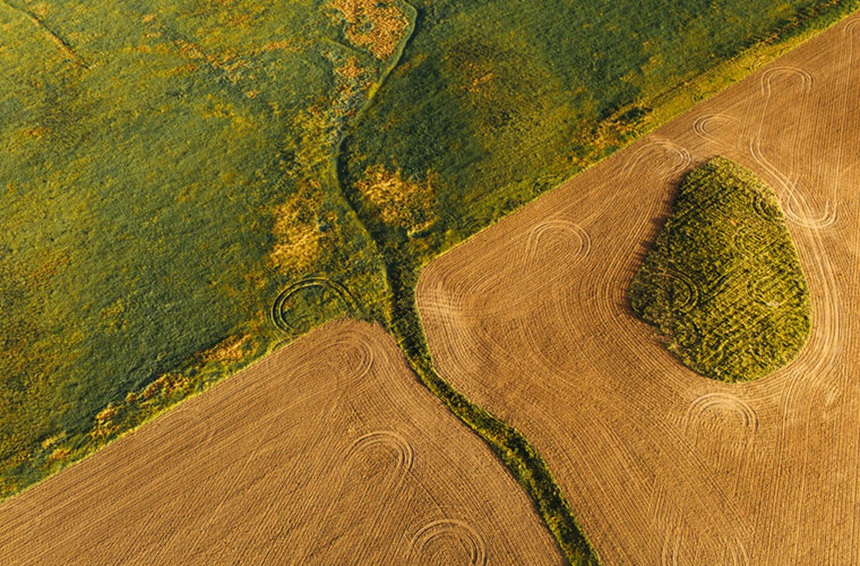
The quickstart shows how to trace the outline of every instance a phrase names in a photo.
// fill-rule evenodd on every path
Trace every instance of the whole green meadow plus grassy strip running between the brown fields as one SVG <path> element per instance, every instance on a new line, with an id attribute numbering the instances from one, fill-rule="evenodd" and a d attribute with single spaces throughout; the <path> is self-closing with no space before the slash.
<path id="1" fill-rule="evenodd" d="M 352 316 L 581 563 L 537 452 L 433 372 L 417 274 L 858 5 L 0 0 L 0 496 Z"/>

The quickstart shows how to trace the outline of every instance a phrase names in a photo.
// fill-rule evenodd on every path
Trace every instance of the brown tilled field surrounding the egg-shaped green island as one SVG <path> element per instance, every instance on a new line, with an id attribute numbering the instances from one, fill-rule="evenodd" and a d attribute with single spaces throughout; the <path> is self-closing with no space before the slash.
<path id="1" fill-rule="evenodd" d="M 860 563 L 860 16 L 434 261 L 442 376 L 541 452 L 604 564 Z M 812 302 L 788 366 L 682 366 L 627 290 L 685 174 L 775 188 Z"/>

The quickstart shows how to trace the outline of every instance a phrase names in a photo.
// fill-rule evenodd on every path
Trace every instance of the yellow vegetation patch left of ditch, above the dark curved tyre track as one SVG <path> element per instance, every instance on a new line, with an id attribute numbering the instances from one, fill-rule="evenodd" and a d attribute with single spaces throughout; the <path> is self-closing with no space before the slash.
<path id="1" fill-rule="evenodd" d="M 309 268 L 320 255 L 324 234 L 318 225 L 320 211 L 316 200 L 293 194 L 275 208 L 272 232 L 276 243 L 269 259 L 282 274 Z"/>

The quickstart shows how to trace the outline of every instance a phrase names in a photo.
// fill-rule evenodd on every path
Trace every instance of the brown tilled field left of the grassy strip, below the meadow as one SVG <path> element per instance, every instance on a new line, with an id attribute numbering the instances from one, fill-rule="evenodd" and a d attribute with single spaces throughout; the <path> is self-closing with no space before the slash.
<path id="1" fill-rule="evenodd" d="M 379 327 L 332 323 L 0 506 L 0 563 L 558 564 Z"/>

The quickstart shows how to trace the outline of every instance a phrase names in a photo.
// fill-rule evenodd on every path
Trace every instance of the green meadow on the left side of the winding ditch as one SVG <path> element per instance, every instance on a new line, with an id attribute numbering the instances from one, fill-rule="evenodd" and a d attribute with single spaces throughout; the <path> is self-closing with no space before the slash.
<path id="1" fill-rule="evenodd" d="M 222 341 L 250 335 L 247 363 L 329 318 L 383 317 L 383 266 L 334 164 L 345 114 L 387 62 L 345 44 L 327 12 L 0 3 L 0 495 L 119 434 L 90 433 L 130 392 L 235 369 L 201 362 Z M 336 71 L 349 57 L 367 71 L 351 96 Z M 319 247 L 279 267 L 290 199 Z M 273 298 L 308 276 L 360 308 L 296 300 L 285 335 Z"/>

